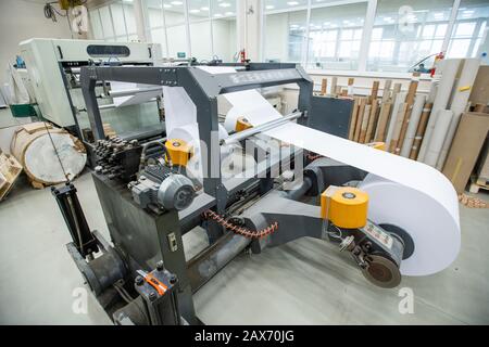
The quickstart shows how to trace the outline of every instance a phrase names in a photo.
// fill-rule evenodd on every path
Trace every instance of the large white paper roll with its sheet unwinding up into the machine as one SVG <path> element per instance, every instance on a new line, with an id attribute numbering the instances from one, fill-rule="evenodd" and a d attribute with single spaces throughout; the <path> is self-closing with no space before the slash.
<path id="1" fill-rule="evenodd" d="M 234 97 L 238 98 L 238 94 Z M 268 118 L 265 115 L 269 115 L 272 108 L 262 110 L 263 119 Z M 258 126 L 265 121 L 252 124 Z M 264 134 L 380 178 L 380 183 L 373 179 L 364 182 L 363 188 L 372 194 L 368 215 L 376 223 L 397 224 L 413 239 L 415 250 L 402 262 L 403 274 L 436 273 L 456 258 L 460 249 L 459 201 L 452 183 L 441 172 L 425 164 L 292 123 Z"/>

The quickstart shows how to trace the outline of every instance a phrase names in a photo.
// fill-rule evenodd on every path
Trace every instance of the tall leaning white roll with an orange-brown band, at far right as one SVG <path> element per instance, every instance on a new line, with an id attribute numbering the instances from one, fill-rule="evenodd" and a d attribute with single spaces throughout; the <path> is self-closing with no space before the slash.
<path id="1" fill-rule="evenodd" d="M 450 146 L 452 145 L 453 138 L 455 137 L 456 127 L 459 127 L 460 117 L 462 117 L 462 113 L 464 113 L 465 108 L 467 107 L 468 97 L 471 97 L 472 86 L 474 86 L 479 66 L 479 59 L 466 59 L 464 61 L 464 67 L 462 69 L 459 81 L 456 82 L 455 94 L 450 107 L 450 110 L 453 111 L 453 119 L 450 124 L 450 128 L 447 132 L 447 138 L 444 139 L 443 146 L 441 147 L 441 153 L 437 163 L 437 169 L 439 170 L 443 168 L 448 152 L 450 150 Z"/>

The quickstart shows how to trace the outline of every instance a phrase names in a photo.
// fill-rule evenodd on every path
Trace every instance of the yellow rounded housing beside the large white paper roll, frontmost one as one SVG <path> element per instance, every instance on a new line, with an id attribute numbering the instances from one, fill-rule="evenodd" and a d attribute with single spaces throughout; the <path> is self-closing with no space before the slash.
<path id="1" fill-rule="evenodd" d="M 321 217 L 339 228 L 365 227 L 367 209 L 368 194 L 356 188 L 330 185 L 321 195 Z"/>

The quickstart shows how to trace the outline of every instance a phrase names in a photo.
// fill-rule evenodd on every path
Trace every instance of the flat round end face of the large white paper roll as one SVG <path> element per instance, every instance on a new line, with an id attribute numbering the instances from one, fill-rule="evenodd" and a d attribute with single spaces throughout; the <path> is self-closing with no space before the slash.
<path id="1" fill-rule="evenodd" d="M 436 200 L 373 175 L 367 176 L 359 188 L 368 193 L 368 218 L 372 221 L 398 226 L 413 239 L 414 253 L 402 260 L 402 274 L 436 273 L 456 258 L 460 231 L 453 216 Z"/>

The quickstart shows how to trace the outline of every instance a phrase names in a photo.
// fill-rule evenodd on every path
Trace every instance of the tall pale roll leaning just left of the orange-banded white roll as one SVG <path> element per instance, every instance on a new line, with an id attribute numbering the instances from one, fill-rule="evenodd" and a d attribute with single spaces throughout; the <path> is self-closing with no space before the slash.
<path id="1" fill-rule="evenodd" d="M 431 116 L 426 127 L 425 137 L 417 156 L 418 162 L 425 160 L 426 152 L 428 151 L 429 143 L 431 141 L 431 133 L 437 124 L 438 112 L 440 110 L 447 110 L 450 97 L 452 95 L 453 83 L 455 82 L 456 73 L 459 72 L 461 59 L 448 59 L 441 61 L 440 72 L 441 80 L 438 83 L 437 95 L 432 104 Z"/>

